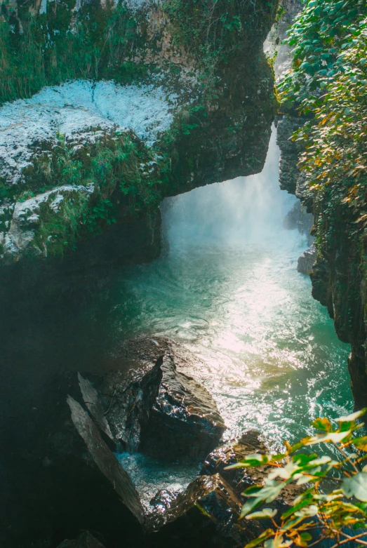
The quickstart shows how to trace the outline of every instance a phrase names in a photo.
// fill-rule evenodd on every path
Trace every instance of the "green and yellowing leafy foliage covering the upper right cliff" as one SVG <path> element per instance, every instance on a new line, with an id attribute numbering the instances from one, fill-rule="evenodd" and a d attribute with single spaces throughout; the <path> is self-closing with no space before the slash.
<path id="1" fill-rule="evenodd" d="M 350 236 L 367 227 L 366 15 L 366 0 L 308 0 L 291 27 L 293 67 L 279 86 L 283 109 L 308 118 L 293 140 L 323 255 L 341 223 Z"/>

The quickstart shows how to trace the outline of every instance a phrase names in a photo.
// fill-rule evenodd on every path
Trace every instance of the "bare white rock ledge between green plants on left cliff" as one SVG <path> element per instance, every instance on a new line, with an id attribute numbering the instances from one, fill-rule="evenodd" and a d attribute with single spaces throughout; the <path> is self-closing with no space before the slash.
<path id="1" fill-rule="evenodd" d="M 0 107 L 0 176 L 19 182 L 34 147 L 55 141 L 56 133 L 95 140 L 100 135 L 95 128 L 131 128 L 152 146 L 171 126 L 175 100 L 162 87 L 77 80 L 44 88 L 31 99 L 6 103 Z"/>

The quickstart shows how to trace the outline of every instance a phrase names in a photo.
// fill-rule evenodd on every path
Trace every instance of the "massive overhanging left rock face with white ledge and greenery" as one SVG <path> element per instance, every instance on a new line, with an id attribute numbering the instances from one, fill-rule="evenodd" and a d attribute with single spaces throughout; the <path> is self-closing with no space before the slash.
<path id="1" fill-rule="evenodd" d="M 149 260 L 164 197 L 261 171 L 275 107 L 262 42 L 276 1 L 230 15 L 224 0 L 176 4 L 1 2 L 5 58 L 25 63 L 23 87 L 11 68 L 0 86 L 0 103 L 12 101 L 0 107 L 4 280 L 16 265 L 28 286 L 53 283 L 86 253 L 94 269 Z M 146 229 L 134 253 L 98 246 L 133 223 Z"/>

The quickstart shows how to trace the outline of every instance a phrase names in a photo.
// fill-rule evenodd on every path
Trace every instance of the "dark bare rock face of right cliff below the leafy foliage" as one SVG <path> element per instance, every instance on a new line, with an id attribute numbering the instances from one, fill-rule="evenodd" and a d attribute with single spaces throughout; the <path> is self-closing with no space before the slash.
<path id="1" fill-rule="evenodd" d="M 321 244 L 316 246 L 316 255 L 312 248 L 302 255 L 299 268 L 311 274 L 313 297 L 328 308 L 338 338 L 352 347 L 348 360 L 352 393 L 356 408 L 363 408 L 367 404 L 366 274 L 361 262 L 364 240 L 356 236 L 354 220 L 345 213 L 340 212 L 340 221 L 335 222 L 332 229 L 326 228 L 327 199 L 325 203 L 314 203 L 307 179 L 297 165 L 299 145 L 289 140 L 302 123 L 302 119 L 290 115 L 279 121 L 281 186 L 298 196 L 305 208 L 314 213 L 312 234 L 317 235 Z"/>

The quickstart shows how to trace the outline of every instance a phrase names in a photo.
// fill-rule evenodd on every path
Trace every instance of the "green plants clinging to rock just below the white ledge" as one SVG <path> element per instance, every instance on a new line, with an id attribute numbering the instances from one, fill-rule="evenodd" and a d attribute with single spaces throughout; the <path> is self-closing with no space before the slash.
<path id="1" fill-rule="evenodd" d="M 77 240 L 99 234 L 116 222 L 117 215 L 134 216 L 156 208 L 168 182 L 167 160 L 131 132 L 111 132 L 88 147 L 67 142 L 59 134 L 58 145 L 46 156 L 34 157 L 33 163 L 20 201 L 48 189 L 70 187 L 62 191 L 57 211 L 47 202 L 40 206 L 34 245 L 44 255 L 60 255 Z"/>

